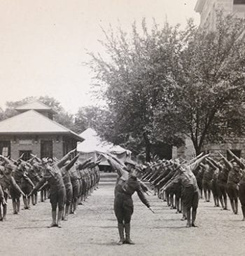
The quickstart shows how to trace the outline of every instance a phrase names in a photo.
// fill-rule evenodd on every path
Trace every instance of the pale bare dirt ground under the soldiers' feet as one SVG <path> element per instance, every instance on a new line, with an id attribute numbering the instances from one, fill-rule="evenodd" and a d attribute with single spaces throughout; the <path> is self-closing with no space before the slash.
<path id="1" fill-rule="evenodd" d="M 114 182 L 114 181 L 113 181 Z M 186 228 L 181 215 L 156 196 L 148 196 L 155 214 L 134 195 L 132 240 L 135 245 L 117 245 L 113 213 L 113 182 L 99 185 L 77 215 L 69 215 L 62 229 L 48 229 L 50 203 L 12 214 L 0 222 L 0 255 L 245 255 L 245 222 L 231 210 L 222 211 L 200 200 L 198 228 Z"/>

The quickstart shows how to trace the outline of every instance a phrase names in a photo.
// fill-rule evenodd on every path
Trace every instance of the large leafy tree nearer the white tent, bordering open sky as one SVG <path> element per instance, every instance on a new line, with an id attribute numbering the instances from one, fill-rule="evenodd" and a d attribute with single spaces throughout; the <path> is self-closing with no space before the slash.
<path id="1" fill-rule="evenodd" d="M 104 34 L 101 43 L 108 55 L 102 58 L 90 53 L 90 66 L 99 89 L 106 88 L 104 97 L 109 106 L 102 133 L 114 143 L 143 144 L 149 161 L 155 142 L 155 109 L 168 100 L 170 62 L 179 46 L 178 27 L 166 22 L 163 28 L 154 23 L 148 29 L 146 20 L 142 20 L 141 29 L 134 23 L 131 34 L 120 28 Z"/>

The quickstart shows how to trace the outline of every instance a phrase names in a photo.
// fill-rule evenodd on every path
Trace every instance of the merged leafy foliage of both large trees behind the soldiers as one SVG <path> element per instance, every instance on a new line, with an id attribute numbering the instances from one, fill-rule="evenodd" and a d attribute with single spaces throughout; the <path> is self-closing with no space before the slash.
<path id="1" fill-rule="evenodd" d="M 140 30 L 134 22 L 130 35 L 104 31 L 107 56 L 90 53 L 89 65 L 109 106 L 101 130 L 107 140 L 144 146 L 149 160 L 154 143 L 188 136 L 199 153 L 205 141 L 230 133 L 227 123 L 241 120 L 235 106 L 244 102 L 245 22 L 217 17 L 216 32 L 191 20 L 183 31 L 167 22 L 149 30 L 146 20 Z"/>

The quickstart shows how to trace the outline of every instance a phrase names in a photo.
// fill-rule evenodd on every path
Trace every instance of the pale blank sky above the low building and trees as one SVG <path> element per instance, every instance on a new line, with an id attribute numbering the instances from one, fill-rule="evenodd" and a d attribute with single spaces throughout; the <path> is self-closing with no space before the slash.
<path id="1" fill-rule="evenodd" d="M 186 25 L 200 15 L 197 0 L 1 0 L 0 107 L 6 101 L 48 95 L 67 112 L 99 104 L 91 93 L 87 50 L 102 53 L 102 28 L 130 32 L 142 18 Z"/>

